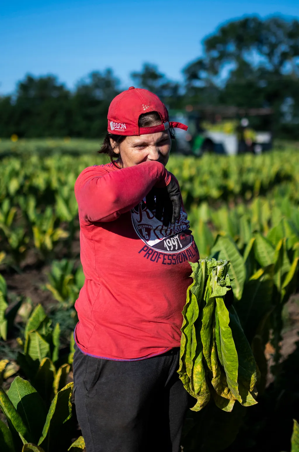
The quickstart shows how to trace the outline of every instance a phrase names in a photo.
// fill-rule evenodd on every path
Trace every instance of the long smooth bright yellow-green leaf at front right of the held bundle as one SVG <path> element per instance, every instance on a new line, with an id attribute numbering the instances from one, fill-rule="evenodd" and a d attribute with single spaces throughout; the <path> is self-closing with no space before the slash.
<path id="1" fill-rule="evenodd" d="M 232 332 L 229 327 L 229 312 L 225 307 L 223 299 L 220 297 L 216 298 L 216 309 L 219 319 L 221 353 L 227 379 L 227 385 L 230 388 L 232 394 L 235 396 L 236 400 L 239 400 L 239 402 L 242 403 L 242 399 L 238 391 L 238 354 L 235 348 Z"/>

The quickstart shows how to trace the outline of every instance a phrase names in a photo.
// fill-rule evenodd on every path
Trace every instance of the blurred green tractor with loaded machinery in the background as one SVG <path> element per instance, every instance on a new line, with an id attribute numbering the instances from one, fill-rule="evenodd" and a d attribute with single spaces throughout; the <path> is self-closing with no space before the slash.
<path id="1" fill-rule="evenodd" d="M 187 132 L 176 131 L 176 152 L 180 154 L 198 157 L 205 152 L 260 154 L 272 147 L 271 132 L 256 131 L 251 127 L 251 122 L 257 124 L 259 117 L 269 118 L 270 108 L 195 108 L 187 105 L 185 110 L 170 110 L 169 113 L 172 121 L 188 125 Z"/>

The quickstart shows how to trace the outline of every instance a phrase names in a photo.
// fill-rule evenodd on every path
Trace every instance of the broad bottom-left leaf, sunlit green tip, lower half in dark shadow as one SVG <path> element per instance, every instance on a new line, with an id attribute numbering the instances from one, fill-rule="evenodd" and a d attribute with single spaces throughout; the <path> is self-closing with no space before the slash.
<path id="1" fill-rule="evenodd" d="M 29 381 L 23 380 L 21 377 L 14 379 L 7 395 L 23 423 L 28 427 L 32 438 L 30 442 L 37 443 L 46 420 L 46 411 L 41 396 Z"/>

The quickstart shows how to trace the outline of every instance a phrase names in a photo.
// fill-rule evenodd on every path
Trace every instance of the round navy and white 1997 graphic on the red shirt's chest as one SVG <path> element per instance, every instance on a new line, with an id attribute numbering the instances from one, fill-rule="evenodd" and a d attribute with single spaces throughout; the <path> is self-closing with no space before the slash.
<path id="1" fill-rule="evenodd" d="M 156 219 L 144 201 L 131 209 L 134 230 L 143 242 L 161 253 L 178 253 L 192 244 L 187 213 L 181 208 L 179 220 L 170 226 Z"/>

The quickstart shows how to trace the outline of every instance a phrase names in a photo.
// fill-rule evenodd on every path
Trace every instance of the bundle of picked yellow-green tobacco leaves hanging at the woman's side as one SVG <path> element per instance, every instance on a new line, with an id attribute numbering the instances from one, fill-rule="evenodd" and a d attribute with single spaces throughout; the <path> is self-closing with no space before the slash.
<path id="1" fill-rule="evenodd" d="M 225 411 L 231 411 L 236 400 L 254 405 L 256 363 L 234 306 L 225 306 L 225 294 L 231 290 L 230 261 L 200 259 L 191 267 L 178 372 L 197 399 L 192 410 L 201 410 L 211 395 Z"/>

